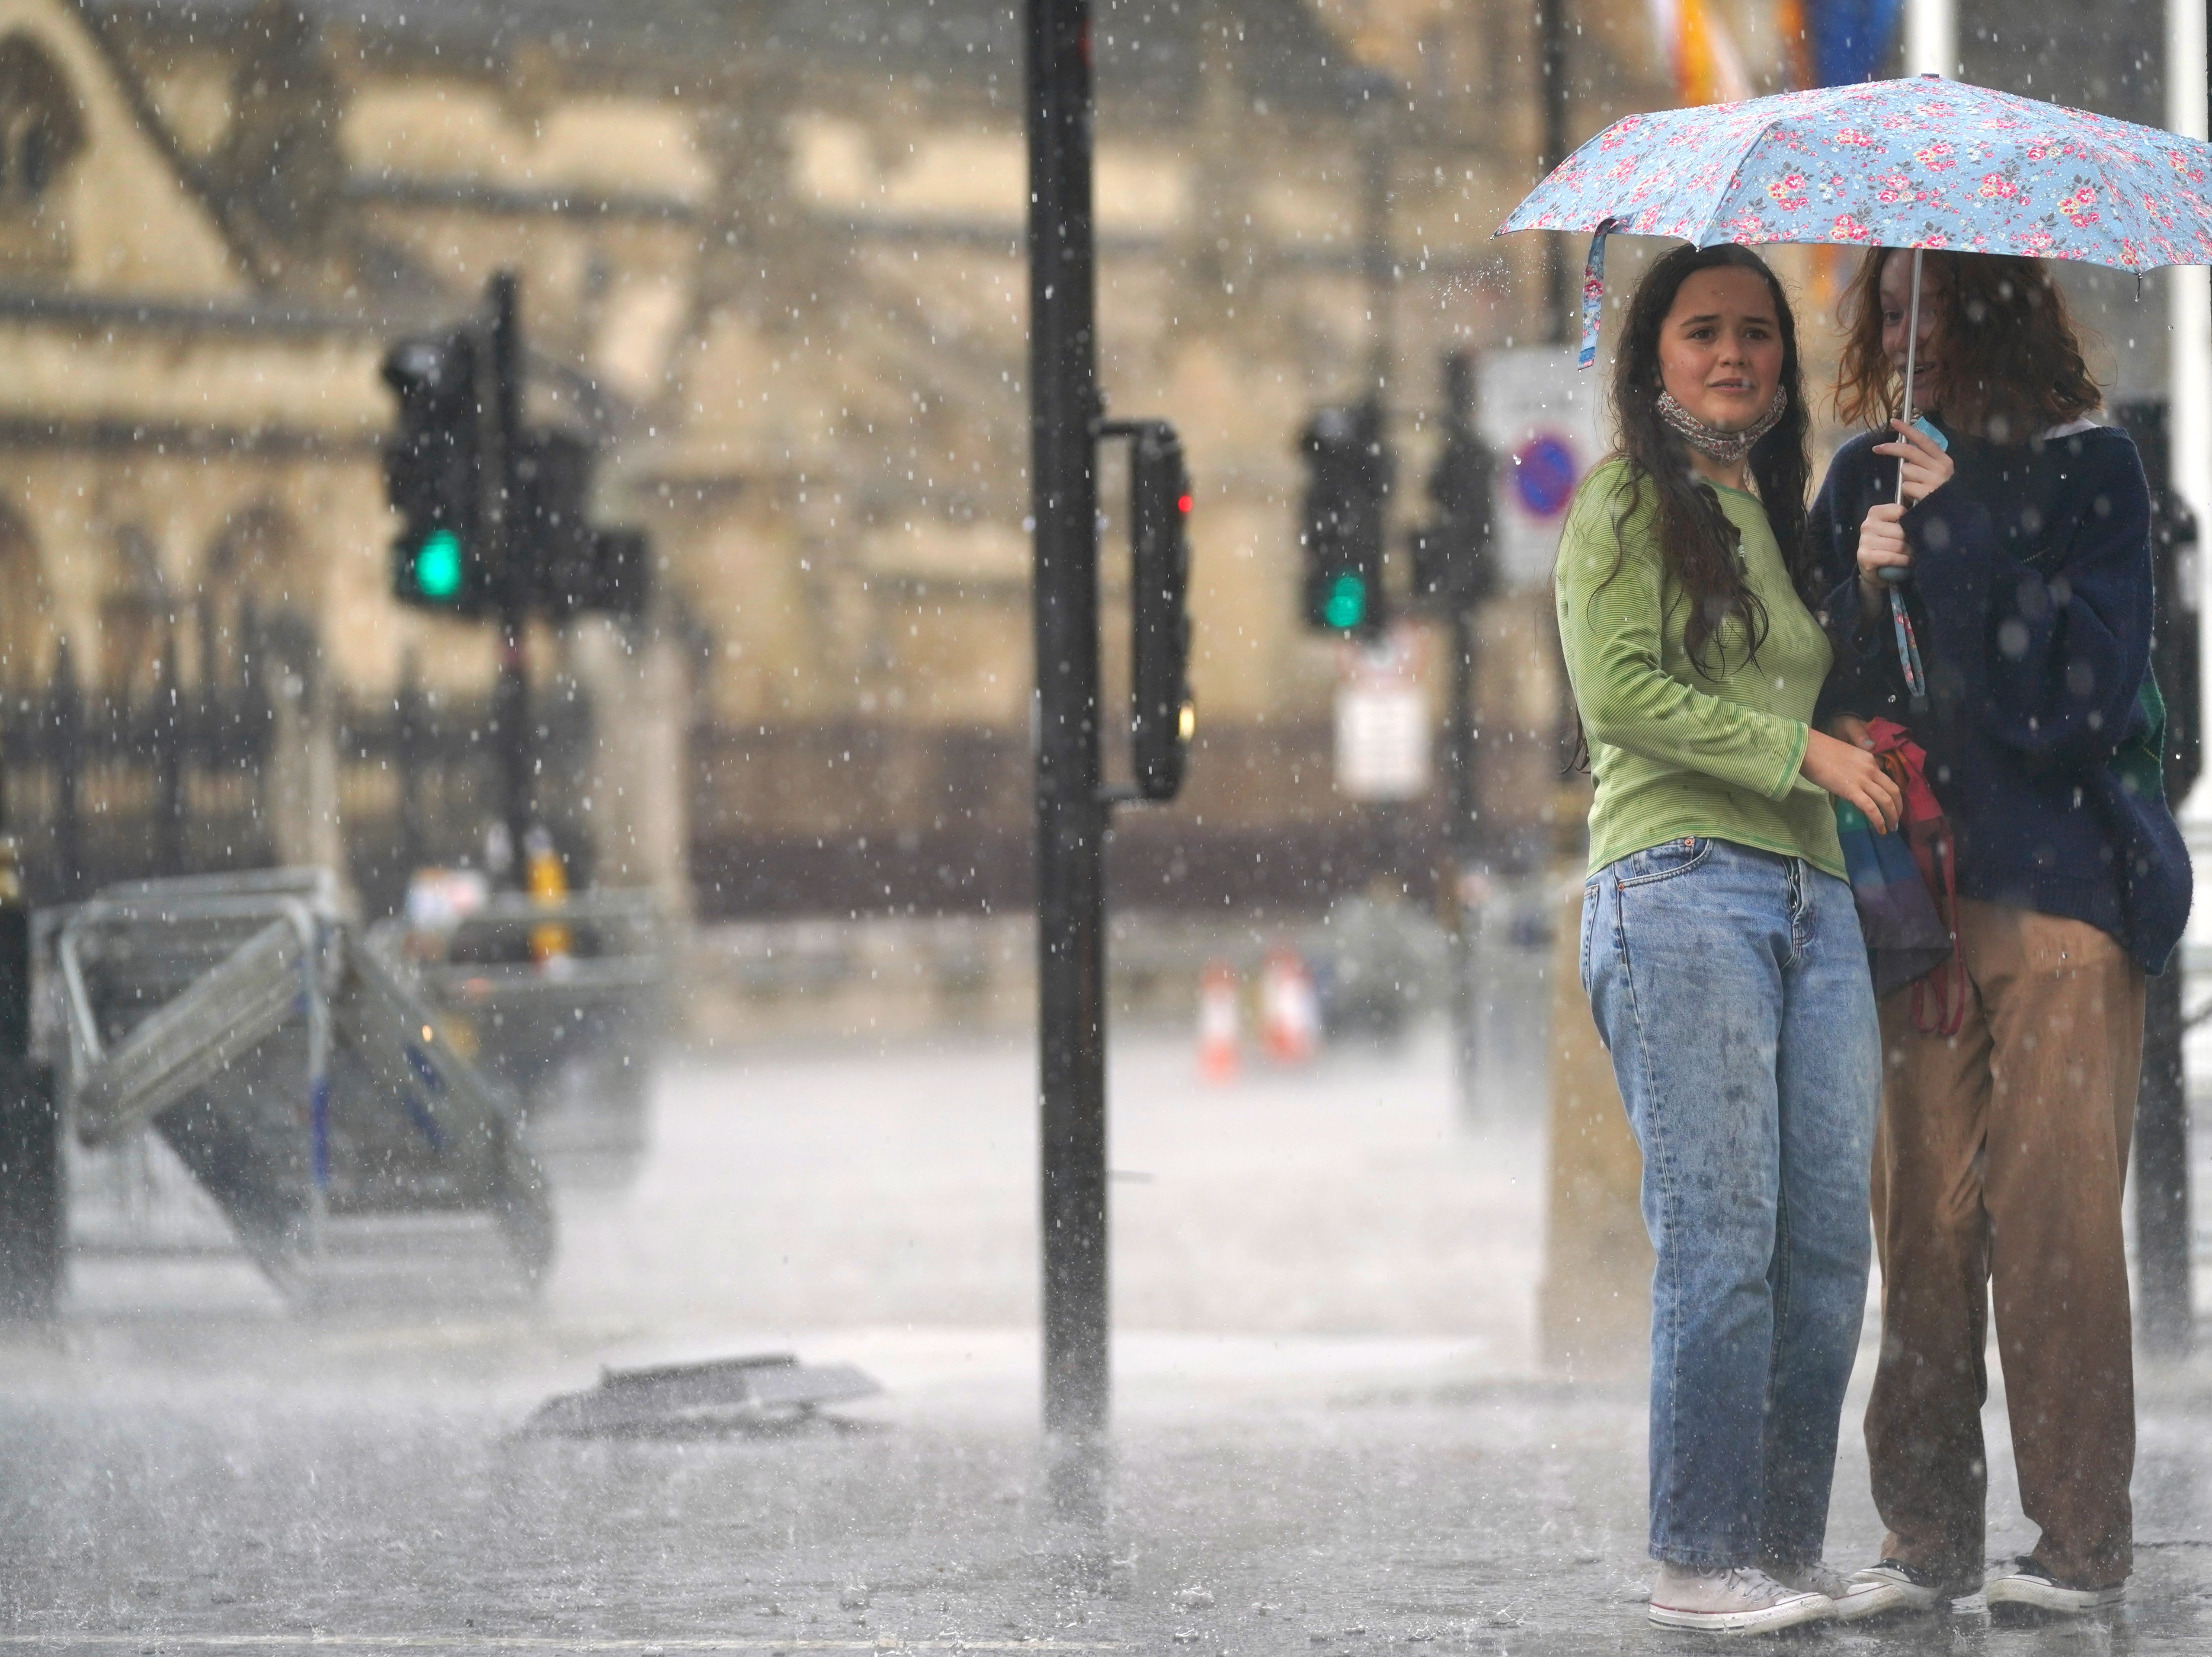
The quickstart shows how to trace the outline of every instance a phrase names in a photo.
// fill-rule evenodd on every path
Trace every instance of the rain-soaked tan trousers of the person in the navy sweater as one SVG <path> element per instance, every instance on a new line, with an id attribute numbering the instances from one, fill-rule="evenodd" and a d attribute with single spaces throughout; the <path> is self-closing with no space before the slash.
<path id="1" fill-rule="evenodd" d="M 2079 920 L 1960 900 L 1958 1035 L 1882 998 L 1874 1239 L 1882 1358 L 1867 1405 L 1885 1557 L 1980 1586 L 1991 1288 L 2035 1557 L 2108 1586 L 2132 1564 L 2135 1363 L 2121 1188 L 2143 969 Z"/>

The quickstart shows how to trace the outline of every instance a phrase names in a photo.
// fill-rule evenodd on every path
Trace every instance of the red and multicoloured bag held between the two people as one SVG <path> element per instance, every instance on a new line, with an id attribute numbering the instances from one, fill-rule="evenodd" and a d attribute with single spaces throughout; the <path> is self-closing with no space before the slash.
<path id="1" fill-rule="evenodd" d="M 1874 993 L 1913 987 L 1913 1024 L 1958 1035 L 1966 1018 L 1966 967 L 1958 953 L 1958 858 L 1951 823 L 1927 783 L 1927 754 L 1891 719 L 1869 719 L 1874 757 L 1905 794 L 1896 834 L 1836 801 L 1836 836 L 1867 938 Z"/>

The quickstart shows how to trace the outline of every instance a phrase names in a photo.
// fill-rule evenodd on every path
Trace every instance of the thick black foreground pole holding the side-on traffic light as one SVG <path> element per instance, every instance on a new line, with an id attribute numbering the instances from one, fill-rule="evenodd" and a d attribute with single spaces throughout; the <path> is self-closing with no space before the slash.
<path id="1" fill-rule="evenodd" d="M 1099 790 L 1091 7 L 1026 0 L 1046 1482 L 1106 1504 L 1106 801 Z"/>

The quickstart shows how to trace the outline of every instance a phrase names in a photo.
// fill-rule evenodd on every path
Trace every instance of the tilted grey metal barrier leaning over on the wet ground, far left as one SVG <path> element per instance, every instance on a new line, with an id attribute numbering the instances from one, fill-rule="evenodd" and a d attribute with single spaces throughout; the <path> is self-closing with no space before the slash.
<path id="1" fill-rule="evenodd" d="M 288 1294 L 332 1221 L 478 1212 L 524 1281 L 553 1254 L 513 1102 L 367 951 L 323 869 L 146 880 L 66 911 L 64 1111 L 84 1146 L 150 1128 Z"/>

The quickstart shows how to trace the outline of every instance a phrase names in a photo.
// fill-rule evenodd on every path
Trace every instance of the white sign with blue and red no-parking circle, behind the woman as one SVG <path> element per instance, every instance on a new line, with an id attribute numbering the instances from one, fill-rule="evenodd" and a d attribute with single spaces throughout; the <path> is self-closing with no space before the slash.
<path id="1" fill-rule="evenodd" d="M 1557 345 L 1482 358 L 1480 425 L 1498 456 L 1498 580 L 1509 591 L 1551 580 L 1575 484 L 1604 454 L 1597 392 L 1595 374 Z"/>

